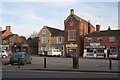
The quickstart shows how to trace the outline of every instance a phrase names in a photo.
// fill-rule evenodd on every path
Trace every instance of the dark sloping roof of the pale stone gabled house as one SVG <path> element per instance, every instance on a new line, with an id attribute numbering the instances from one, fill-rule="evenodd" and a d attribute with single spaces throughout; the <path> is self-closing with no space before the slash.
<path id="1" fill-rule="evenodd" d="M 56 29 L 56 28 L 51 28 L 51 27 L 48 27 L 48 26 L 45 26 L 45 27 L 50 31 L 52 37 L 64 36 L 64 31 L 63 30 Z"/>

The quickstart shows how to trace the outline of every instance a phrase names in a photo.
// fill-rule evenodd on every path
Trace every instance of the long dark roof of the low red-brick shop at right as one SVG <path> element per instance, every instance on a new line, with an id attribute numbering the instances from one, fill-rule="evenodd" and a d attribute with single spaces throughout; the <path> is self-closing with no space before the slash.
<path id="1" fill-rule="evenodd" d="M 85 37 L 92 36 L 118 36 L 120 35 L 120 30 L 104 30 L 104 31 L 95 31 L 90 34 L 85 35 Z"/>

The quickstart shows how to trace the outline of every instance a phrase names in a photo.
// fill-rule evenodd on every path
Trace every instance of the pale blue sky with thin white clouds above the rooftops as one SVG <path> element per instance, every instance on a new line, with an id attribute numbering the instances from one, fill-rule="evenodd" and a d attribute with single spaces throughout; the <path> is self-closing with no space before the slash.
<path id="1" fill-rule="evenodd" d="M 99 1 L 99 0 L 98 0 Z M 93 26 L 101 25 L 101 30 L 118 29 L 117 0 L 2 0 L 0 3 L 0 27 L 11 26 L 14 34 L 28 37 L 39 32 L 43 26 L 64 30 L 64 20 L 70 9 L 79 17 L 90 20 Z"/>

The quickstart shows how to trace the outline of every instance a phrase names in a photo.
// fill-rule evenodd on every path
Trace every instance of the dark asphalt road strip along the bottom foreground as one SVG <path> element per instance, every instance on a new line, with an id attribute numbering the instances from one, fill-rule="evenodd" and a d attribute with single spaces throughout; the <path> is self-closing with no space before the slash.
<path id="1" fill-rule="evenodd" d="M 118 73 L 69 71 L 3 71 L 2 78 L 118 78 Z"/>

